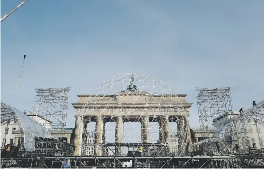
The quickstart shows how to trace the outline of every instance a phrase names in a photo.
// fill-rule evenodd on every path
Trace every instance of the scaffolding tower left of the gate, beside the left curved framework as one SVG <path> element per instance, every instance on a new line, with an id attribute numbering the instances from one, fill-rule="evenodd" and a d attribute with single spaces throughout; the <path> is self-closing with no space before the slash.
<path id="1" fill-rule="evenodd" d="M 61 154 L 65 150 L 64 142 L 65 126 L 68 109 L 68 95 L 70 87 L 67 88 L 36 88 L 32 112 L 33 123 L 42 126 L 39 128 L 46 133 L 34 138 L 34 150 L 50 154 L 54 152 Z M 30 129 L 32 130 L 32 129 Z M 31 131 L 43 132 L 43 131 Z M 51 141 L 52 140 L 52 141 Z M 52 153 L 51 153 L 52 154 Z"/>

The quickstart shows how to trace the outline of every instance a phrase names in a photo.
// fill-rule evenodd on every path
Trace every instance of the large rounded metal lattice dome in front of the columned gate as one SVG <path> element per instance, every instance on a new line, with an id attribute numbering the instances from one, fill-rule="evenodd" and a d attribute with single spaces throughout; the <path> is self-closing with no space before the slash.
<path id="1" fill-rule="evenodd" d="M 122 156 L 140 149 L 145 156 L 183 155 L 189 149 L 188 112 L 168 86 L 151 76 L 106 80 L 79 115 L 76 155 Z"/>

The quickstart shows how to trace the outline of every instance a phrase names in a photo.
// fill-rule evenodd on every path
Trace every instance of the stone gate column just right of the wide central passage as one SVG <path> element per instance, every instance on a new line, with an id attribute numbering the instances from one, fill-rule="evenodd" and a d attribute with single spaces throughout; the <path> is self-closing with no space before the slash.
<path id="1" fill-rule="evenodd" d="M 149 143 L 150 142 L 150 131 L 149 131 L 149 117 L 141 117 L 141 139 L 142 143 Z M 143 155 L 149 155 L 149 147 L 148 146 L 143 146 Z"/>

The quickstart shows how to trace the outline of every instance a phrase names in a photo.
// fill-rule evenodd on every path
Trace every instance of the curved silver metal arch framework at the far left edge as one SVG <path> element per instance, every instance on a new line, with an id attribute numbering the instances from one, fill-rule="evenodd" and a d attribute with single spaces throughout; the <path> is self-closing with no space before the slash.
<path id="1" fill-rule="evenodd" d="M 39 132 L 31 132 L 39 131 Z M 1 101 L 1 148 L 10 143 L 19 150 L 34 150 L 34 138 L 45 137 L 44 127 L 32 123 L 24 112 Z M 25 142 L 26 140 L 26 142 Z"/>

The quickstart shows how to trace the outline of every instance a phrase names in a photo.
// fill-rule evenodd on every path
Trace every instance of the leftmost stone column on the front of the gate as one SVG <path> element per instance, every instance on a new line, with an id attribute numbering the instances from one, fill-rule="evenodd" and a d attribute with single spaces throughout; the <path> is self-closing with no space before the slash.
<path id="1" fill-rule="evenodd" d="M 81 116 L 76 116 L 75 131 L 74 131 L 74 145 L 75 156 L 81 156 L 81 144 L 83 135 L 83 121 Z"/>

